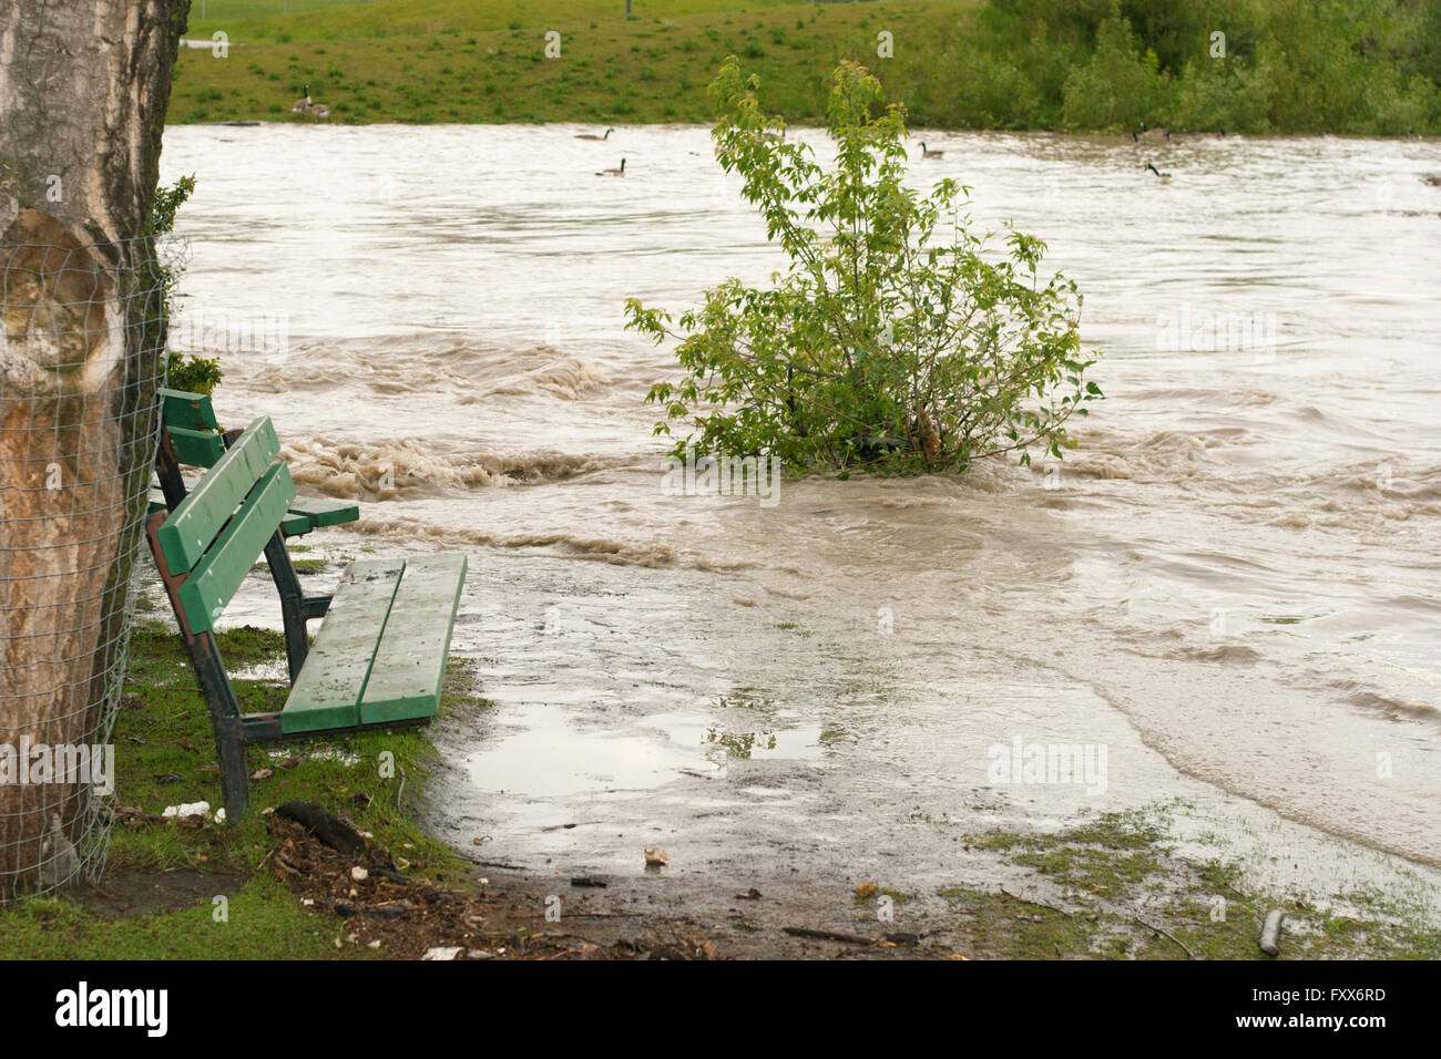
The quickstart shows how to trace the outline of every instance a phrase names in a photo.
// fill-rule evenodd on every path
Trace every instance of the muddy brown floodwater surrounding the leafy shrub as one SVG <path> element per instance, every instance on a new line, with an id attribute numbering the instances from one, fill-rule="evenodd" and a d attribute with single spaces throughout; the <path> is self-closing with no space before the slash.
<path id="1" fill-rule="evenodd" d="M 777 252 L 706 130 L 576 131 L 166 137 L 197 177 L 179 344 L 303 491 L 363 503 L 314 543 L 470 556 L 452 650 L 494 707 L 437 730 L 442 834 L 909 889 L 967 831 L 1169 803 L 1303 880 L 1441 864 L 1441 146 L 927 134 L 918 186 L 1078 281 L 1108 399 L 1059 465 L 761 506 L 661 488 L 641 398 L 674 367 L 623 300 Z M 1017 743 L 1104 751 L 1104 782 L 997 777 Z"/>

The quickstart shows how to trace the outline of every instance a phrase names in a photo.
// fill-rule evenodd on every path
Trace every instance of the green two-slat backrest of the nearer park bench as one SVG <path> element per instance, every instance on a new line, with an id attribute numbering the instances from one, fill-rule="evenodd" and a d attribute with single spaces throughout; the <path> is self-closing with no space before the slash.
<path id="1" fill-rule="evenodd" d="M 167 429 L 195 429 L 171 428 L 169 415 L 167 403 Z M 295 499 L 290 467 L 278 455 L 269 416 L 255 419 L 156 533 L 170 575 L 186 575 L 179 596 L 192 633 L 209 631 L 220 617 Z"/>

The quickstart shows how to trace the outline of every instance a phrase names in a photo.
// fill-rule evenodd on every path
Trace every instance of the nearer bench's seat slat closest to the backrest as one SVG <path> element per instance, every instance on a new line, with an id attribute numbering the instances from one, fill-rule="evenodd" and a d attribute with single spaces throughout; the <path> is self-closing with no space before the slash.
<path id="1" fill-rule="evenodd" d="M 403 559 L 363 559 L 352 565 L 281 710 L 282 732 L 359 723 L 360 694 L 403 569 Z"/>

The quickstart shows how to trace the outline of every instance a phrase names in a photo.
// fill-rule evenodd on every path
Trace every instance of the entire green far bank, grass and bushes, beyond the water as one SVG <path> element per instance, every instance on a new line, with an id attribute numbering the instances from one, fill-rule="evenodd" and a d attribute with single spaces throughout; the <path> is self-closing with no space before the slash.
<path id="1" fill-rule="evenodd" d="M 793 124 L 839 59 L 940 128 L 1441 133 L 1441 9 L 1419 0 L 195 0 L 171 122 L 709 121 L 726 55 Z M 548 58 L 548 33 L 552 49 Z M 885 35 L 889 35 L 886 37 Z M 1219 37 L 1216 35 L 1221 35 Z M 889 56 L 882 55 L 889 43 Z"/>

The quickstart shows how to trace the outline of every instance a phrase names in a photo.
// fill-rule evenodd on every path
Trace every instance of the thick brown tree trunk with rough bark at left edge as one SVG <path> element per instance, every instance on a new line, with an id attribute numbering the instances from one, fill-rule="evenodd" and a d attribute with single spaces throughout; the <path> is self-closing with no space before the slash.
<path id="1" fill-rule="evenodd" d="M 0 0 L 0 754 L 107 741 L 124 680 L 164 349 L 147 220 L 189 7 Z M 55 814 L 82 847 L 91 823 L 88 785 L 17 779 L 0 899 Z"/>

